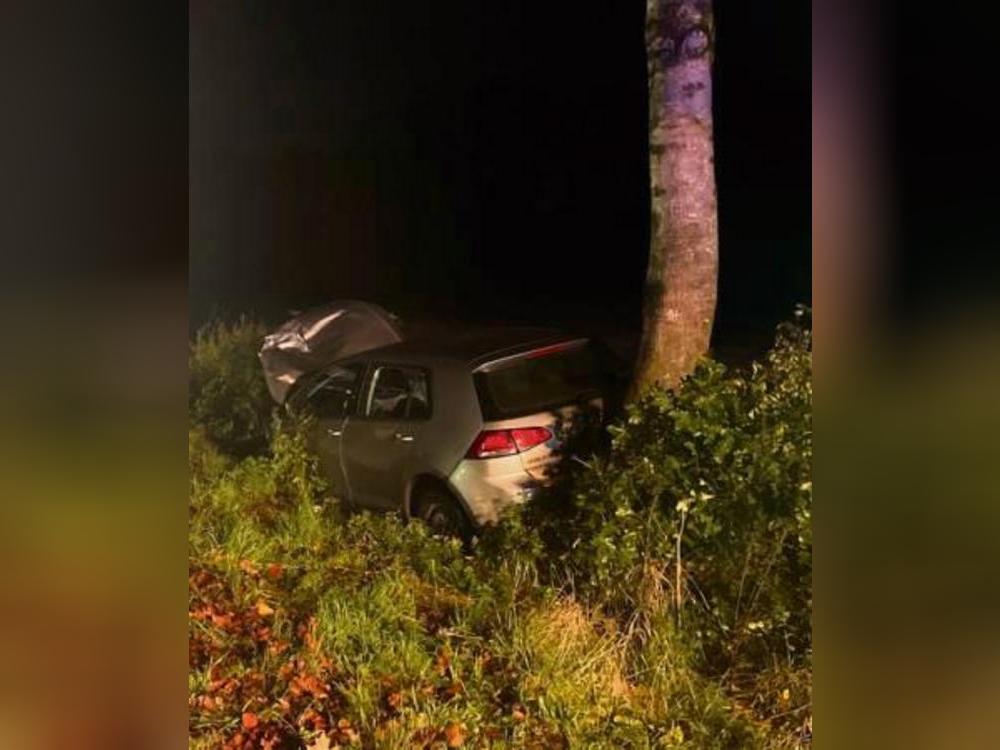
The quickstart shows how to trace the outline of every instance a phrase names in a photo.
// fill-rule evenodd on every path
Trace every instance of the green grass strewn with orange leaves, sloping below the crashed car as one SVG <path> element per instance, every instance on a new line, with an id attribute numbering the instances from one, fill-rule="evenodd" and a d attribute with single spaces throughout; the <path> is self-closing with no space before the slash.
<path id="1" fill-rule="evenodd" d="M 526 561 L 324 501 L 301 434 L 235 463 L 192 440 L 193 746 L 752 746 L 717 686 L 656 683 L 672 665 Z"/>

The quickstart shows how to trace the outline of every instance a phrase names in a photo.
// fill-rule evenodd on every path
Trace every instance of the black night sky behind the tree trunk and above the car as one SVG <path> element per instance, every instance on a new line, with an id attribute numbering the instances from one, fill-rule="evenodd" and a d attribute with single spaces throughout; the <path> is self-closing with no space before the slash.
<path id="1" fill-rule="evenodd" d="M 192 322 L 639 324 L 644 3 L 195 3 Z M 716 339 L 811 297 L 808 4 L 716 3 Z"/>

